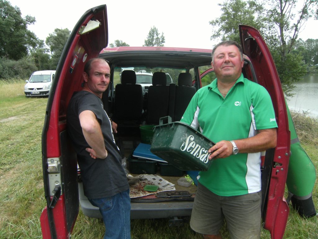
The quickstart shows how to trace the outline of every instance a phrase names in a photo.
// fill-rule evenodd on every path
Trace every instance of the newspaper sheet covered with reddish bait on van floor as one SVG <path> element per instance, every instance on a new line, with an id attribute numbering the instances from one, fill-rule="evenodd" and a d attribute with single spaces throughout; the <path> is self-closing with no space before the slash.
<path id="1" fill-rule="evenodd" d="M 157 192 L 176 190 L 174 184 L 155 174 L 140 174 L 136 177 L 128 174 L 127 178 L 130 186 L 130 198 L 142 197 Z M 147 192 L 143 190 L 146 185 L 157 185 L 158 190 L 156 192 Z"/>

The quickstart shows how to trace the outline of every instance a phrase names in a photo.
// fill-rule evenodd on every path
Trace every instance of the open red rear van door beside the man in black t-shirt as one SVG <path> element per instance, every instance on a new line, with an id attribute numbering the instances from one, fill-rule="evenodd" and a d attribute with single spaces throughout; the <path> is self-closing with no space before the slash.
<path id="1" fill-rule="evenodd" d="M 66 131 L 66 109 L 73 92 L 81 89 L 86 61 L 98 56 L 107 43 L 106 5 L 100 5 L 79 19 L 56 69 L 42 131 L 46 207 L 40 221 L 44 239 L 71 237 L 79 212 L 79 195 L 77 159 Z"/>

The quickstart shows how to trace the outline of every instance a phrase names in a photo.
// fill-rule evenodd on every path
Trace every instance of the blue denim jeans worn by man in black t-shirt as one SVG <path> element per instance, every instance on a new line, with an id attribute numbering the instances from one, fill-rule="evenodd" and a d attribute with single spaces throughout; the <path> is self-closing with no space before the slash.
<path id="1" fill-rule="evenodd" d="M 88 200 L 100 209 L 106 228 L 104 239 L 130 239 L 129 189 L 108 198 Z"/>

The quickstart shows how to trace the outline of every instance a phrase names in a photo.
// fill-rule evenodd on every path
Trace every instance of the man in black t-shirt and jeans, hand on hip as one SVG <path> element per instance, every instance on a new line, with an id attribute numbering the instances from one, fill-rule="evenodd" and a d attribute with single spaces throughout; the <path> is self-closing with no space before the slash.
<path id="1" fill-rule="evenodd" d="M 130 238 L 130 198 L 121 155 L 101 97 L 109 84 L 110 67 L 93 58 L 84 68 L 84 87 L 74 92 L 67 109 L 67 128 L 81 170 L 84 194 L 99 207 L 104 239 Z"/>

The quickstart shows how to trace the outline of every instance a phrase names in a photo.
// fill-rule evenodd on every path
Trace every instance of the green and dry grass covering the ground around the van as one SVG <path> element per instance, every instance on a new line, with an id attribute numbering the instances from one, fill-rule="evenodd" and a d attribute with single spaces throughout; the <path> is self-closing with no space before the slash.
<path id="1" fill-rule="evenodd" d="M 42 238 L 39 217 L 45 207 L 41 133 L 47 98 L 25 98 L 24 81 L 0 81 L 0 238 Z M 298 116 L 300 117 L 300 116 Z M 299 120 L 299 119 L 298 119 Z M 297 121 L 301 142 L 318 168 L 316 120 L 300 117 Z M 296 125 L 296 124 L 295 124 Z M 310 125 L 310 127 L 308 127 Z M 306 127 L 304 127 L 306 126 Z M 307 131 L 305 130 L 307 128 Z M 309 132 L 308 132 L 309 128 Z M 309 135 L 312 135 L 308 137 Z M 313 190 L 318 209 L 317 184 Z M 202 238 L 190 229 L 188 221 L 181 227 L 169 227 L 169 219 L 132 220 L 133 239 Z M 223 238 L 229 238 L 223 229 Z M 80 211 L 72 239 L 102 238 L 104 225 L 100 219 L 88 218 Z M 270 238 L 262 229 L 262 239 Z M 301 218 L 291 207 L 284 239 L 317 239 L 317 217 Z"/>

